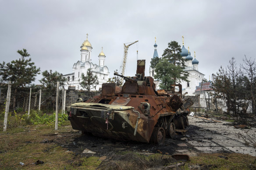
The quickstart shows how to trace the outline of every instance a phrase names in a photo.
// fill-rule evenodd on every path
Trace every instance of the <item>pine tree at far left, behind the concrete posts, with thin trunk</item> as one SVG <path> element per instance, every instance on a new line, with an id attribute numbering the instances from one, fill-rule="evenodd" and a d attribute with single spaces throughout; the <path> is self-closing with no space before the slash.
<path id="1" fill-rule="evenodd" d="M 16 95 L 19 87 L 26 87 L 30 83 L 36 80 L 36 75 L 40 74 L 40 68 L 35 66 L 35 63 L 31 61 L 31 58 L 26 49 L 17 51 L 20 55 L 20 59 L 13 60 L 8 63 L 0 63 L 0 76 L 4 83 L 11 81 L 11 87 L 14 88 L 14 103 L 15 109 Z"/>

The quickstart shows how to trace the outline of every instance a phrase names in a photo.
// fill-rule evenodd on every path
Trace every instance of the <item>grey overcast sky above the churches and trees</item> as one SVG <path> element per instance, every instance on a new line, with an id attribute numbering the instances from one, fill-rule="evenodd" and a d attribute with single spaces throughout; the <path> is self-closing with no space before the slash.
<path id="1" fill-rule="evenodd" d="M 24 48 L 41 71 L 68 74 L 88 33 L 92 62 L 99 63 L 103 46 L 110 77 L 120 68 L 124 43 L 136 40 L 125 75 L 136 73 L 137 48 L 149 75 L 154 37 L 162 56 L 168 42 L 182 46 L 183 35 L 208 80 L 231 57 L 256 58 L 255 7 L 255 0 L 0 0 L 0 62 L 18 59 Z"/>

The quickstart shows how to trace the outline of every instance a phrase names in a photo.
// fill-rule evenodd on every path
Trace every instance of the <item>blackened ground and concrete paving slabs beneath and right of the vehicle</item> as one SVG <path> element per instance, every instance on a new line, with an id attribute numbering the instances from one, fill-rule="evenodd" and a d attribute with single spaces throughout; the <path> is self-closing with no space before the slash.
<path id="1" fill-rule="evenodd" d="M 161 153 L 166 155 L 188 154 L 196 156 L 198 153 L 245 153 L 256 156 L 255 149 L 239 139 L 237 134 L 245 134 L 245 129 L 235 129 L 229 122 L 213 122 L 189 116 L 189 126 L 185 134 L 176 133 L 176 139 L 166 138 L 164 145 L 142 143 L 135 141 L 118 141 L 93 135 L 82 135 L 72 130 L 71 138 L 62 145 L 76 155 L 110 156 L 115 153 L 138 152 L 145 155 Z M 256 128 L 249 129 L 253 135 Z M 246 134 L 245 134 L 246 135 Z M 184 137 L 186 139 L 184 139 Z M 59 139 L 59 141 L 58 141 Z M 61 143 L 61 138 L 55 139 Z M 95 153 L 82 153 L 89 149 Z"/>

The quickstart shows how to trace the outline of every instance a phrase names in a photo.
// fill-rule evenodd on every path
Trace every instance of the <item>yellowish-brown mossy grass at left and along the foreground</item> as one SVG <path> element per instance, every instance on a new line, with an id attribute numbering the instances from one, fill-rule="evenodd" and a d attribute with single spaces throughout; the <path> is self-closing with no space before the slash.
<path id="1" fill-rule="evenodd" d="M 0 123 L 2 120 L 0 120 Z M 57 137 L 59 135 L 69 135 L 69 137 Z M 0 169 L 33 169 L 33 170 L 94 170 L 106 169 L 105 167 L 121 167 L 126 169 L 143 169 L 148 166 L 170 165 L 175 162 L 171 156 L 156 153 L 153 155 L 143 155 L 139 152 L 120 151 L 108 157 L 108 161 L 101 161 L 100 157 L 76 155 L 68 151 L 67 148 L 58 146 L 59 143 L 69 143 L 70 139 L 78 136 L 74 133 L 69 121 L 64 121 L 58 130 L 47 125 L 26 125 L 7 128 L 6 132 L 0 131 Z M 56 140 L 58 138 L 58 140 Z M 53 141 L 43 143 L 48 139 Z M 56 146 L 56 147 L 54 147 Z M 228 160 L 219 156 L 226 156 Z M 123 159 L 120 159 L 123 158 Z M 44 163 L 35 165 L 37 160 Z M 139 160 L 139 161 L 138 161 Z M 21 166 L 19 162 L 24 163 Z M 180 167 L 183 170 L 189 169 L 209 169 L 209 170 L 242 170 L 256 169 L 256 157 L 239 153 L 200 153 L 198 156 L 191 156 L 190 161 Z M 105 163 L 105 164 L 104 164 Z M 110 164 L 111 163 L 111 164 Z M 138 165 L 137 165 L 137 164 Z M 105 166 L 105 167 L 104 167 Z"/>

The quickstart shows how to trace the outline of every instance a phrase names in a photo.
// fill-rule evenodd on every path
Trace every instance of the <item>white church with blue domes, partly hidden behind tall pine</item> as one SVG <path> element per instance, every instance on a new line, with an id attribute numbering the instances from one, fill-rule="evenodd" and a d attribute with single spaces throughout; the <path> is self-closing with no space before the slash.
<path id="1" fill-rule="evenodd" d="M 200 73 L 198 70 L 199 61 L 196 59 L 196 52 L 195 52 L 195 59 L 193 59 L 193 57 L 190 56 L 191 52 L 188 51 L 189 48 L 187 50 L 184 46 L 184 39 L 183 39 L 182 44 L 183 44 L 183 46 L 181 48 L 181 56 L 182 56 L 182 58 L 187 60 L 185 62 L 186 67 L 185 67 L 184 71 L 189 73 L 189 76 L 188 76 L 189 82 L 181 81 L 181 82 L 177 82 L 177 83 L 180 83 L 182 85 L 182 94 L 185 94 L 186 92 L 188 92 L 189 96 L 195 96 L 196 95 L 196 92 L 195 92 L 196 86 L 199 86 L 199 83 L 202 82 L 204 74 Z M 153 58 L 159 57 L 156 47 L 157 47 L 157 45 L 155 43 Z M 154 69 L 149 67 L 149 75 L 153 77 L 154 74 L 156 74 L 156 73 L 154 73 Z M 159 85 L 160 85 L 160 83 L 162 83 L 162 81 L 155 80 L 154 83 L 156 84 L 156 89 L 160 89 Z"/>

